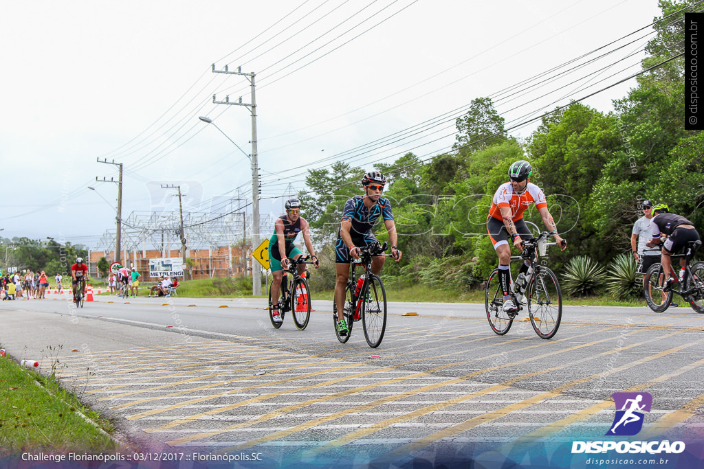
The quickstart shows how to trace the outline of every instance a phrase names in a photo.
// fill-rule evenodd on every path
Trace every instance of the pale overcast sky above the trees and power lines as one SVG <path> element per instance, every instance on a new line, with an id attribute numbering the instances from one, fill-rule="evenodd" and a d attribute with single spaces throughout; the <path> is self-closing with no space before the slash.
<path id="1" fill-rule="evenodd" d="M 659 14 L 656 0 L 6 2 L 0 235 L 90 247 L 115 229 L 117 187 L 95 179 L 117 169 L 96 158 L 125 165 L 124 218 L 177 210 L 161 184 L 183 184 L 187 210 L 238 189 L 246 203 L 250 113 L 213 94 L 250 103 L 249 82 L 213 63 L 256 73 L 262 212 L 278 215 L 308 167 L 346 159 L 370 170 L 448 150 L 474 98 L 494 98 L 510 127 L 631 75 L 651 29 L 620 38 Z M 531 81 L 612 41 L 570 67 L 620 49 L 570 75 Z M 522 82 L 536 86 L 513 88 Z M 585 103 L 609 111 L 634 84 Z"/>

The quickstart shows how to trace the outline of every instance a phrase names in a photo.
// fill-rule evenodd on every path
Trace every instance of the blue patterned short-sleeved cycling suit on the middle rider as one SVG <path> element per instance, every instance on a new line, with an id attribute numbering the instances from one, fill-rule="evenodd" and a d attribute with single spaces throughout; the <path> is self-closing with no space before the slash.
<path id="1" fill-rule="evenodd" d="M 363 200 L 363 195 L 355 195 L 347 200 L 342 210 L 342 221 L 351 222 L 350 236 L 353 245 L 356 246 L 367 246 L 377 242 L 377 238 L 372 233 L 372 228 L 379 218 L 384 220 L 394 219 L 389 199 L 379 197 L 379 200 L 371 209 L 364 205 Z M 351 262 L 349 249 L 342 240 L 339 229 L 337 230 L 337 242 L 335 243 L 335 262 L 343 264 Z"/>

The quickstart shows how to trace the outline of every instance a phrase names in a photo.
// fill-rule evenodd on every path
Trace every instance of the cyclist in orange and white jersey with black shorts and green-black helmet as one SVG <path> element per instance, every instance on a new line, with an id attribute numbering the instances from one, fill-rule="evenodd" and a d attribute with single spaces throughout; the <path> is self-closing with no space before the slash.
<path id="1" fill-rule="evenodd" d="M 533 174 L 533 167 L 525 160 L 518 160 L 508 169 L 509 182 L 501 184 L 494 194 L 489 209 L 489 217 L 486 218 L 486 230 L 489 231 L 491 243 L 494 244 L 496 255 L 498 255 L 498 280 L 503 290 L 503 310 L 506 312 L 517 311 L 517 305 L 511 300 L 513 284 L 509 270 L 511 262 L 511 248 L 508 238 L 517 250 L 523 250 L 521 236 L 532 236 L 528 226 L 523 220 L 523 212 L 535 204 L 540 217 L 543 219 L 548 231 L 555 231 L 553 216 L 548 211 L 548 203 L 541 188 L 529 181 Z M 555 234 L 555 242 L 564 251 L 567 248 L 567 241 Z M 520 267 L 519 275 L 528 271 L 530 263 L 525 261 Z"/>

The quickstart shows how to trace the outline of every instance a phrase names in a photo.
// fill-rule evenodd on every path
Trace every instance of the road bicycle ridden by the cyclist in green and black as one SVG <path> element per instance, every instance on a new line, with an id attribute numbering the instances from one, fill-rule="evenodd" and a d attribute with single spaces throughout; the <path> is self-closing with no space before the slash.
<path id="1" fill-rule="evenodd" d="M 279 314 L 281 322 L 274 321 L 273 303 L 271 301 L 271 286 L 269 287 L 269 319 L 272 326 L 280 328 L 284 323 L 284 314 L 288 311 L 294 313 L 294 323 L 298 330 L 303 330 L 308 326 L 310 319 L 310 288 L 308 288 L 308 279 L 298 275 L 298 266 L 301 264 L 313 264 L 310 262 L 310 254 L 306 257 L 298 257 L 298 259 L 289 259 L 289 267 L 284 269 L 284 276 L 281 279 L 281 298 L 279 299 Z M 291 274 L 291 289 L 289 290 L 289 276 Z"/>

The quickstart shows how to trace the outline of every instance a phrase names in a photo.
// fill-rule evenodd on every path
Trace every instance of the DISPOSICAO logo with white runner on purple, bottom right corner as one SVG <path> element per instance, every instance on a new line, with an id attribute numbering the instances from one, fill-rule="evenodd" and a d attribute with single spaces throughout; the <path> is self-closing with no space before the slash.
<path id="1" fill-rule="evenodd" d="M 616 412 L 606 436 L 633 436 L 643 428 L 645 413 L 650 412 L 653 396 L 649 392 L 615 392 Z M 604 454 L 616 451 L 619 454 L 680 454 L 684 442 L 653 441 L 596 441 L 572 442 L 572 454 Z"/>

